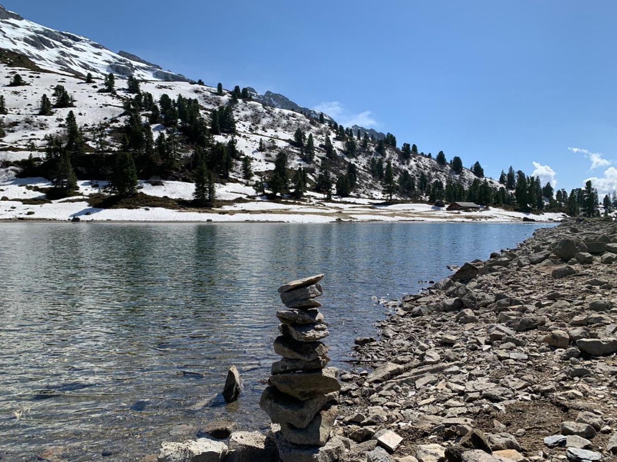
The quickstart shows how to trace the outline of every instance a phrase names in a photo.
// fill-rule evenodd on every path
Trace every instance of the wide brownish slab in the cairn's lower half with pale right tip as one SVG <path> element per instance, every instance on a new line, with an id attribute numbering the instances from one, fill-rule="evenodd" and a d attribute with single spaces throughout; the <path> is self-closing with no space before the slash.
<path id="1" fill-rule="evenodd" d="M 279 391 L 300 400 L 339 391 L 337 369 L 326 367 L 319 371 L 290 372 L 270 376 L 270 383 Z"/>

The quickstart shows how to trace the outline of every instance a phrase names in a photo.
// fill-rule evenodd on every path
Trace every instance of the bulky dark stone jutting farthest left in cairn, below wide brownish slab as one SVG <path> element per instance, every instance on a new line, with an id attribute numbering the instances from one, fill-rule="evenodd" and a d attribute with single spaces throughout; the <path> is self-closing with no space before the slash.
<path id="1" fill-rule="evenodd" d="M 263 391 L 259 406 L 270 416 L 273 423 L 289 423 L 297 428 L 305 428 L 322 407 L 327 403 L 336 402 L 337 399 L 338 393 L 332 392 L 299 400 L 270 386 Z"/>

